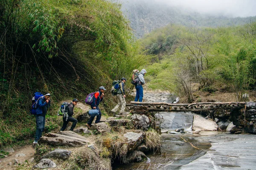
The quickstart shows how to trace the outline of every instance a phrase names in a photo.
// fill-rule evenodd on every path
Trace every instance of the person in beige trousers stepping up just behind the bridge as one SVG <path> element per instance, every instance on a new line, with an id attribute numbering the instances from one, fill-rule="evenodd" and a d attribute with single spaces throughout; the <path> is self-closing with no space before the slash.
<path id="1" fill-rule="evenodd" d="M 117 99 L 117 105 L 115 108 L 111 110 L 111 112 L 115 115 L 116 111 L 118 110 L 119 106 L 121 105 L 121 110 L 120 113 L 125 112 L 125 82 L 126 79 L 125 77 L 122 77 L 121 81 L 119 82 L 118 89 L 117 89 L 117 94 L 116 94 L 116 99 Z"/>

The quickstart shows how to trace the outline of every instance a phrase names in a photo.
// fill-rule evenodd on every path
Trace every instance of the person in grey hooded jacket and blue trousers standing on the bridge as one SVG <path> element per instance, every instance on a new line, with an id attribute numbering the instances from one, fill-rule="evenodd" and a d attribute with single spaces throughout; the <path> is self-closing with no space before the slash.
<path id="1" fill-rule="evenodd" d="M 145 85 L 145 79 L 144 76 L 147 73 L 145 69 L 142 69 L 140 71 L 140 74 L 138 75 L 137 84 L 135 85 L 136 88 L 136 96 L 135 96 L 135 102 L 142 102 L 143 99 L 143 85 Z"/>

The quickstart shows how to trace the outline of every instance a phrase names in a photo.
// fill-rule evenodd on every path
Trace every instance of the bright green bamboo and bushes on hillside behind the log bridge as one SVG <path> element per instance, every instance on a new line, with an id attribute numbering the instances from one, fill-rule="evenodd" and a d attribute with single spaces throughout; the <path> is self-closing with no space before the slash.
<path id="1" fill-rule="evenodd" d="M 148 87 L 175 92 L 194 102 L 192 85 L 213 93 L 235 92 L 236 100 L 256 95 L 256 23 L 228 28 L 188 28 L 170 24 L 140 41 L 150 58 Z M 197 99 L 200 102 L 200 99 Z"/>

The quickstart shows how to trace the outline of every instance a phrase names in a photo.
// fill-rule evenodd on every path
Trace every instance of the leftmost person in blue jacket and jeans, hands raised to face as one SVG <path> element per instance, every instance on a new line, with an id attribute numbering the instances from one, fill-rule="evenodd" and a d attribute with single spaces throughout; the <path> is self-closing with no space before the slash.
<path id="1" fill-rule="evenodd" d="M 35 131 L 35 140 L 33 144 L 38 144 L 38 140 L 42 136 L 42 132 L 44 130 L 44 124 L 45 124 L 45 115 L 51 103 L 50 96 L 51 95 L 47 93 L 46 95 L 41 96 L 37 101 L 36 116 L 35 116 L 36 131 Z"/>

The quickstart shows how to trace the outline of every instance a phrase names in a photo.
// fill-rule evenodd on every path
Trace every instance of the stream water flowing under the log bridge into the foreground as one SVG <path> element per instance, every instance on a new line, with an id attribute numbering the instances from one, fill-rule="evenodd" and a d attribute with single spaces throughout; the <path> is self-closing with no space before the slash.
<path id="1" fill-rule="evenodd" d="M 166 98 L 164 102 L 172 102 Z M 160 150 L 145 153 L 148 159 L 144 162 L 114 164 L 113 170 L 256 170 L 255 135 L 217 131 L 193 134 L 189 133 L 193 113 L 157 114 L 164 119 L 162 130 L 169 131 L 161 134 Z M 177 128 L 184 128 L 186 133 L 175 133 Z"/>

